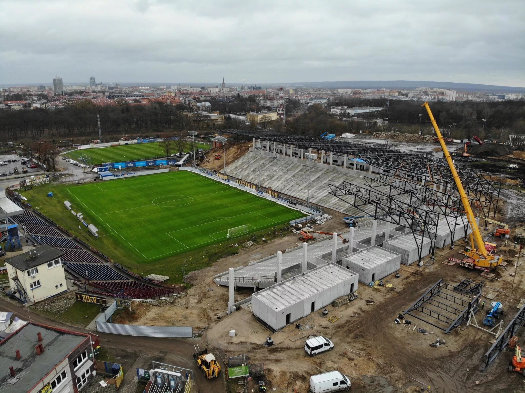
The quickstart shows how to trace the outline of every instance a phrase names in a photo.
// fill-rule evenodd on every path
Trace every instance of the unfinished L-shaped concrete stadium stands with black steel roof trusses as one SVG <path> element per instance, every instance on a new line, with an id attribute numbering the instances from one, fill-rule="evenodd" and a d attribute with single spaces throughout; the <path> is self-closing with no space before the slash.
<path id="1" fill-rule="evenodd" d="M 277 254 L 237 268 L 236 286 L 266 288 L 278 275 L 292 277 L 322 263 L 341 263 L 356 252 L 377 246 L 401 254 L 404 264 L 421 264 L 428 254 L 429 263 L 433 263 L 436 247 L 454 248 L 455 241 L 470 233 L 444 158 L 404 152 L 386 144 L 260 130 L 217 131 L 252 142 L 247 154 L 220 171 L 224 178 L 289 195 L 319 210 L 362 217 L 355 238 L 351 230 L 343 234 L 344 243 L 334 239 L 333 247 L 331 239 L 318 240 L 319 246 L 311 246 L 311 251 L 317 251 L 310 256 L 300 250 L 283 255 L 281 272 L 277 272 Z M 456 168 L 470 200 L 480 209 L 477 220 L 495 216 L 501 184 L 471 165 L 457 163 Z M 216 276 L 215 282 L 228 285 L 228 273 Z"/>

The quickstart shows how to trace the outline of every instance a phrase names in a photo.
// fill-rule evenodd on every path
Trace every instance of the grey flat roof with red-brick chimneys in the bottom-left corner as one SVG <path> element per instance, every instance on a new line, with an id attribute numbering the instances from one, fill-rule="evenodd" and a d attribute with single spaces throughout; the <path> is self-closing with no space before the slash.
<path id="1" fill-rule="evenodd" d="M 37 355 L 35 345 L 38 344 L 37 333 L 42 334 L 41 344 L 44 353 Z M 3 364 L 0 384 L 2 392 L 19 393 L 31 390 L 40 379 L 66 358 L 88 336 L 80 333 L 66 333 L 47 326 L 28 322 L 24 327 L 0 342 L 0 364 Z M 20 350 L 20 359 L 16 359 L 15 351 Z M 11 377 L 9 367 L 13 366 L 16 375 Z M 71 376 L 68 374 L 68 378 Z M 12 384 L 17 378 L 16 382 Z M 10 382 L 7 382 L 11 380 Z"/>

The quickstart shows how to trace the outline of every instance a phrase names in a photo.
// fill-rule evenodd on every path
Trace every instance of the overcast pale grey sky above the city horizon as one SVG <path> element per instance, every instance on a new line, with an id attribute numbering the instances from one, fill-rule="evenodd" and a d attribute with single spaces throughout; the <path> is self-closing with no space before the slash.
<path id="1" fill-rule="evenodd" d="M 525 0 L 0 0 L 0 85 L 55 75 L 525 87 Z"/>

